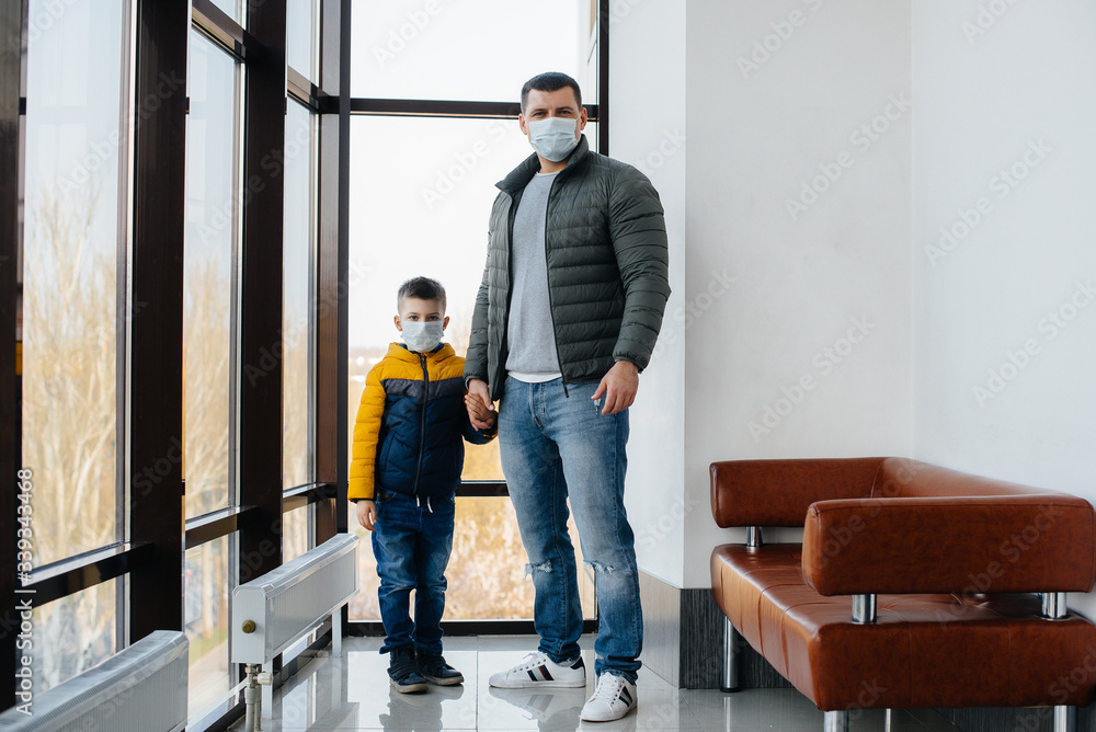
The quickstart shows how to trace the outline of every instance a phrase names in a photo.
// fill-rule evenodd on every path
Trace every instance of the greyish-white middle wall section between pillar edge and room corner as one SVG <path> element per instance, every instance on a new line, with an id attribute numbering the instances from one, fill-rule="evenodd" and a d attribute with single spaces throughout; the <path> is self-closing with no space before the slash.
<path id="1" fill-rule="evenodd" d="M 711 461 L 911 450 L 910 4 L 690 0 L 686 35 L 684 586 L 706 587 Z"/>

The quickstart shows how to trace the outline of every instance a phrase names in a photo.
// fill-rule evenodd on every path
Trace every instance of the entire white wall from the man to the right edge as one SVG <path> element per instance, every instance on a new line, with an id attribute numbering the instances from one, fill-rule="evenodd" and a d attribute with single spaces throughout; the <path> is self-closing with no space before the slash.
<path id="1" fill-rule="evenodd" d="M 633 414 L 641 567 L 709 584 L 716 459 L 913 455 L 1096 501 L 1096 5 L 617 7 L 612 152 L 688 139 L 648 171 L 674 298 Z"/>

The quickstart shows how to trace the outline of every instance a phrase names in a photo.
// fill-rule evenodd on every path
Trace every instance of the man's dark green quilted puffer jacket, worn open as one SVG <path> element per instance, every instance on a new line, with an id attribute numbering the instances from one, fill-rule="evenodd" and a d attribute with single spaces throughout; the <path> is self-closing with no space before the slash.
<path id="1" fill-rule="evenodd" d="M 538 170 L 534 153 L 498 183 L 491 209 L 465 379 L 487 381 L 492 399 L 505 381 L 514 215 Z M 583 136 L 548 196 L 545 243 L 563 384 L 601 379 L 619 359 L 646 368 L 670 297 L 666 225 L 647 176 L 591 152 Z"/>

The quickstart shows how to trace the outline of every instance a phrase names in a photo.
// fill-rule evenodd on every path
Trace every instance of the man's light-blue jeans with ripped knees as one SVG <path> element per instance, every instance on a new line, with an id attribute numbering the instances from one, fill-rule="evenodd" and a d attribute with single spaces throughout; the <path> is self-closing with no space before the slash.
<path id="1" fill-rule="evenodd" d="M 635 683 L 643 645 L 636 540 L 624 507 L 628 411 L 603 415 L 597 381 L 506 379 L 499 408 L 502 469 L 536 588 L 540 651 L 556 663 L 579 655 L 582 607 L 567 530 L 571 499 L 583 559 L 597 592 L 595 673 Z"/>

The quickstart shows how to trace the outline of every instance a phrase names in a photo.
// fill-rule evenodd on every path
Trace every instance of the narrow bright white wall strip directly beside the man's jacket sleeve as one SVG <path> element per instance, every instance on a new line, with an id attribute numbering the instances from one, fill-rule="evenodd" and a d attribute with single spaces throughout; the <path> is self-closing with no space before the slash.
<path id="1" fill-rule="evenodd" d="M 640 377 L 628 444 L 628 517 L 646 572 L 682 586 L 685 510 L 685 342 L 673 313 L 685 286 L 685 3 L 612 5 L 609 155 L 654 183 L 670 239 L 667 320 Z M 659 53 L 652 53 L 657 39 Z"/>

